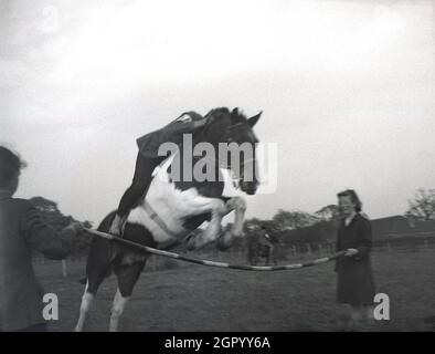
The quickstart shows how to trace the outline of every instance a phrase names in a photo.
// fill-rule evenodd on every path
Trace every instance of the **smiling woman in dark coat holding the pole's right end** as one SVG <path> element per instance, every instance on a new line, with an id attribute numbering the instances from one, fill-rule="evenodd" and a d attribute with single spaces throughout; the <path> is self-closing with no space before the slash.
<path id="1" fill-rule="evenodd" d="M 361 319 L 371 314 L 375 294 L 370 262 L 372 230 L 369 219 L 361 215 L 362 205 L 354 190 L 339 192 L 338 200 L 342 220 L 337 251 L 348 252 L 336 263 L 337 302 L 347 308 L 342 325 L 356 329 Z"/>

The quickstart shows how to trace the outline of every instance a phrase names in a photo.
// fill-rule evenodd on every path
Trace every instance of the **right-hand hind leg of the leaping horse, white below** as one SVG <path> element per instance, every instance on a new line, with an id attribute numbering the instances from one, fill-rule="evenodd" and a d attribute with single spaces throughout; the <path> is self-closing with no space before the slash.
<path id="1" fill-rule="evenodd" d="M 124 313 L 128 300 L 131 296 L 132 288 L 135 287 L 140 273 L 144 270 L 146 261 L 117 266 L 115 274 L 118 278 L 118 290 L 116 291 L 114 303 L 110 313 L 110 332 L 118 331 L 119 317 Z"/>

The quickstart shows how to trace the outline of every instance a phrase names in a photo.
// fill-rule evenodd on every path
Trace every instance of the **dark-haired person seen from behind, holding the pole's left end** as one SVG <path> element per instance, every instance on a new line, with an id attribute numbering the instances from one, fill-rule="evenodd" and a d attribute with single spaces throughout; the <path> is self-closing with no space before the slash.
<path id="1" fill-rule="evenodd" d="M 25 199 L 12 198 L 24 163 L 0 146 L 0 332 L 46 331 L 43 291 L 35 279 L 31 251 L 64 259 L 81 231 L 71 223 L 57 233 Z"/>

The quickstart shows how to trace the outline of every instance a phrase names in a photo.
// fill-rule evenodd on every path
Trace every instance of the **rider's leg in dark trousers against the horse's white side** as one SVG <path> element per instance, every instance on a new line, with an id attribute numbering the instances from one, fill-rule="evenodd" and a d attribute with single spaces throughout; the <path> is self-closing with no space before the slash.
<path id="1" fill-rule="evenodd" d="M 146 194 L 152 180 L 152 171 L 161 163 L 161 158 L 148 158 L 140 153 L 136 159 L 135 175 L 131 186 L 124 192 L 118 210 L 112 222 L 109 233 L 120 235 L 130 209 Z"/>

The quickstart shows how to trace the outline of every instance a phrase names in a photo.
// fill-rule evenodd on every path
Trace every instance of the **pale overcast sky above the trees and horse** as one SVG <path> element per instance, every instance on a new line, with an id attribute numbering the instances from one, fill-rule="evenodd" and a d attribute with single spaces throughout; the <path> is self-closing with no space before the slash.
<path id="1" fill-rule="evenodd" d="M 135 139 L 184 111 L 264 111 L 275 194 L 248 217 L 314 212 L 354 188 L 371 218 L 435 178 L 434 1 L 0 0 L 0 144 L 18 197 L 99 222 Z"/>

